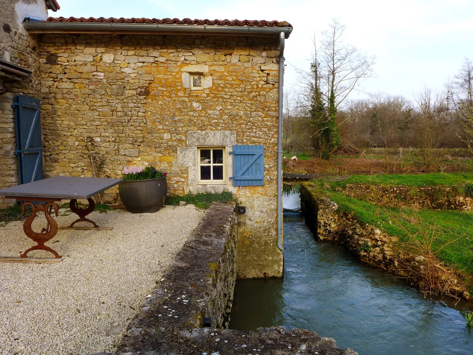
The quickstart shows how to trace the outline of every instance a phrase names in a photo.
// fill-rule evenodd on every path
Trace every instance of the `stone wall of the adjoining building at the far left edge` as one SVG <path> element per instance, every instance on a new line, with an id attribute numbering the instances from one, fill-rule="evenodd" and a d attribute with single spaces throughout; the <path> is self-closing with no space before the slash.
<path id="1" fill-rule="evenodd" d="M 44 0 L 0 0 L 0 58 L 33 70 L 26 81 L 0 75 L 0 189 L 18 185 L 13 99 L 20 93 L 39 97 L 39 46 L 21 25 L 26 15 L 47 18 Z M 9 203 L 0 196 L 0 207 Z"/>

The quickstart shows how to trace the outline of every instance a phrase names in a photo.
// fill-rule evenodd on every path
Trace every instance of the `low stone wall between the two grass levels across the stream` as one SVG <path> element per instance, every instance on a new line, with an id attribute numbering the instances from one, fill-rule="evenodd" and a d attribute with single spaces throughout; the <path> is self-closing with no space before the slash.
<path id="1" fill-rule="evenodd" d="M 373 186 L 347 184 L 345 194 L 352 198 L 388 207 L 414 205 L 438 210 L 472 211 L 473 198 L 459 190 L 462 186 Z"/>

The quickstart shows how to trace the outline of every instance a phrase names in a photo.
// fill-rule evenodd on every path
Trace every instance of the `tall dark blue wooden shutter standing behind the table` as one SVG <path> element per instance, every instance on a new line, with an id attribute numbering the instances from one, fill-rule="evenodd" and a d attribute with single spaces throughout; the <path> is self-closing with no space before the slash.
<path id="1" fill-rule="evenodd" d="M 42 180 L 43 143 L 41 141 L 40 102 L 25 95 L 15 96 L 19 183 Z"/>

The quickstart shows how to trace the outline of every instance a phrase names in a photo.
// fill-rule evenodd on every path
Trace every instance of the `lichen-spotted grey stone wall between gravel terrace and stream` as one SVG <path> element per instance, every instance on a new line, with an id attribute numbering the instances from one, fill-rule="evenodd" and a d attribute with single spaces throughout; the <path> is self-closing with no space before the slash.
<path id="1" fill-rule="evenodd" d="M 148 295 L 115 355 L 356 355 L 303 329 L 228 327 L 236 279 L 234 204 L 214 202 Z M 203 328 L 203 317 L 211 327 Z M 110 355 L 97 353 L 95 355 Z"/>

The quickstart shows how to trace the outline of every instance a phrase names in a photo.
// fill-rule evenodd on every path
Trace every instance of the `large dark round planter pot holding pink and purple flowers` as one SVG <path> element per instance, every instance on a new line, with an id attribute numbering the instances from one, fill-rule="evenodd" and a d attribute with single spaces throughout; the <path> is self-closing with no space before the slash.
<path id="1" fill-rule="evenodd" d="M 118 191 L 128 212 L 153 213 L 163 206 L 167 193 L 167 181 L 166 177 L 125 180 L 118 185 Z"/>

